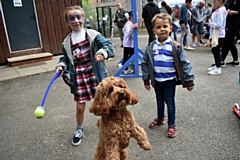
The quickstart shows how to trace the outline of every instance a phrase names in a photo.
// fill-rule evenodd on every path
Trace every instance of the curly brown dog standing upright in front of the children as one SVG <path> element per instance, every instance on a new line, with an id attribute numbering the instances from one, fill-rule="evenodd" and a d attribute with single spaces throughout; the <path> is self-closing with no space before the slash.
<path id="1" fill-rule="evenodd" d="M 141 148 L 151 149 L 146 132 L 127 110 L 127 105 L 137 102 L 137 95 L 129 90 L 122 78 L 106 78 L 98 85 L 95 99 L 89 108 L 91 113 L 101 116 L 97 123 L 99 141 L 95 160 L 126 159 L 126 148 L 131 137 L 137 140 Z"/>

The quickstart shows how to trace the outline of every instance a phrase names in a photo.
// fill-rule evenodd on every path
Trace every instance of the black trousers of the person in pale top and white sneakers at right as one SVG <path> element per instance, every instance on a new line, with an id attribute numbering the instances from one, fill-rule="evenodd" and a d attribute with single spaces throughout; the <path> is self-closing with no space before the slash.
<path id="1" fill-rule="evenodd" d="M 221 50 L 223 47 L 223 43 L 224 43 L 224 38 L 218 38 L 218 45 L 212 48 L 214 61 L 218 68 L 221 67 Z"/>

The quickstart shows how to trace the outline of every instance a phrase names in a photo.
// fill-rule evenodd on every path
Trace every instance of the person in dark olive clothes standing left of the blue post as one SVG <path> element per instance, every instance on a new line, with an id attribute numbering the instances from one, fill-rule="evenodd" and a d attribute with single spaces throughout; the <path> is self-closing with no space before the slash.
<path id="1" fill-rule="evenodd" d="M 114 19 L 114 23 L 117 24 L 118 27 L 118 33 L 120 36 L 120 40 L 121 40 L 121 47 L 123 47 L 122 42 L 123 42 L 123 26 L 125 25 L 125 23 L 127 22 L 127 19 L 125 17 L 125 13 L 127 13 L 127 11 L 125 11 L 122 8 L 122 4 L 120 2 L 117 3 L 117 11 L 115 13 L 115 19 Z"/>

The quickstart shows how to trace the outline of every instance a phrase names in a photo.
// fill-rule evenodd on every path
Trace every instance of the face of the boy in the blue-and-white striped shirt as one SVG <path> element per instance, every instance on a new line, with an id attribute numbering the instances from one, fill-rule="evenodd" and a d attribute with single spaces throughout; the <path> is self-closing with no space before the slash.
<path id="1" fill-rule="evenodd" d="M 153 32 L 158 37 L 159 42 L 164 42 L 168 39 L 169 33 L 172 32 L 172 26 L 168 19 L 157 18 L 153 26 Z"/>

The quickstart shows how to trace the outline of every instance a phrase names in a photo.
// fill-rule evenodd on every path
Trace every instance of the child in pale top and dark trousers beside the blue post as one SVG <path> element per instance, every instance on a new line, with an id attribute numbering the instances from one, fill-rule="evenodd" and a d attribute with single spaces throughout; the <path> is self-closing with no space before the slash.
<path id="1" fill-rule="evenodd" d="M 126 18 L 128 19 L 128 22 L 123 27 L 123 61 L 122 65 L 124 65 L 127 60 L 134 54 L 134 34 L 133 31 L 135 28 L 138 27 L 138 24 L 133 24 L 133 17 L 132 17 L 132 11 L 129 11 L 128 13 L 125 13 Z M 133 70 L 126 67 L 126 69 L 123 71 L 124 74 L 130 74 L 133 73 Z"/>

